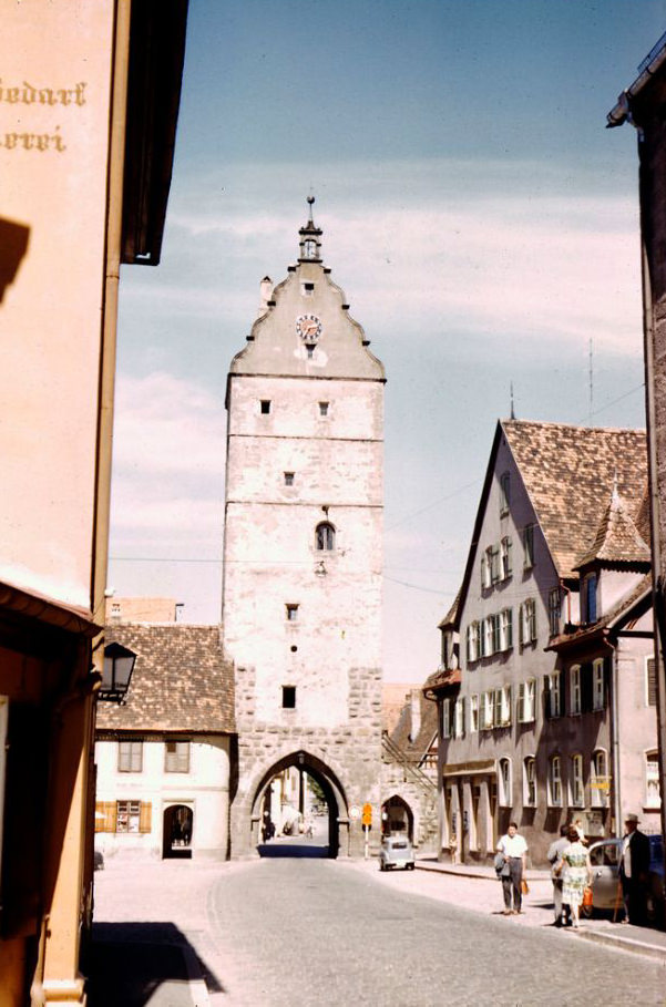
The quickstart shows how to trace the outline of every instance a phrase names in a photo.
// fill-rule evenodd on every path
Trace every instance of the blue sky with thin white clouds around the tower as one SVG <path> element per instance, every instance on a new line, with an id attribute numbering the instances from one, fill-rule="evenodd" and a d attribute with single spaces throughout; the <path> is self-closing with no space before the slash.
<path id="1" fill-rule="evenodd" d="M 221 613 L 226 376 L 306 196 L 387 370 L 387 681 L 437 669 L 498 419 L 643 427 L 666 0 L 191 0 L 162 263 L 123 267 L 109 587 Z"/>

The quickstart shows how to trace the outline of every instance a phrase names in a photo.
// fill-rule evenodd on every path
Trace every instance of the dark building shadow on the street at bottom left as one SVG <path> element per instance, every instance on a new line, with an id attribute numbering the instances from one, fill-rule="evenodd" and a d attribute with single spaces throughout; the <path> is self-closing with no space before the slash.
<path id="1" fill-rule="evenodd" d="M 225 991 L 173 923 L 96 923 L 86 963 L 89 1007 L 192 1007 L 194 969 L 212 993 Z"/>

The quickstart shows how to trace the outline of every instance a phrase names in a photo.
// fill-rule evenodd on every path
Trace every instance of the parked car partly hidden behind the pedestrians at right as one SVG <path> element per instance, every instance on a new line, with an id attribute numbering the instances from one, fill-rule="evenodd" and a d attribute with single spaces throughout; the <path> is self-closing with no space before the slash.
<path id="1" fill-rule="evenodd" d="M 664 921 L 664 841 L 660 835 L 648 835 L 649 878 L 647 918 L 656 924 Z M 624 912 L 619 888 L 618 869 L 622 854 L 621 839 L 606 839 L 590 847 L 592 864 L 592 906 L 583 910 L 592 915 L 594 910 L 618 914 Z"/>

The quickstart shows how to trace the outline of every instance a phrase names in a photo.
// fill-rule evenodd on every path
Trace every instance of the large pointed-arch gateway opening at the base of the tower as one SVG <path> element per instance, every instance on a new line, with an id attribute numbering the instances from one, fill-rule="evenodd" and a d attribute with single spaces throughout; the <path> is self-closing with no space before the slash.
<path id="1" fill-rule="evenodd" d="M 270 767 L 252 805 L 253 845 L 260 856 L 336 857 L 347 799 L 316 756 L 298 751 Z"/>

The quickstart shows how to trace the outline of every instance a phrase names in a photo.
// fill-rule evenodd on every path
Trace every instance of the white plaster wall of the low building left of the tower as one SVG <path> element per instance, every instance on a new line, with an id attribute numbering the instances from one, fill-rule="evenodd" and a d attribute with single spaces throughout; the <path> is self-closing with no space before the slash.
<path id="1" fill-rule="evenodd" d="M 191 742 L 189 772 L 164 772 L 164 740 L 143 742 L 139 773 L 117 771 L 117 741 L 98 741 L 95 801 L 147 801 L 152 806 L 150 833 L 95 833 L 95 849 L 104 855 L 123 853 L 162 856 L 163 814 L 171 804 L 194 812 L 193 857 L 225 857 L 228 845 L 229 740 L 224 736 Z"/>

